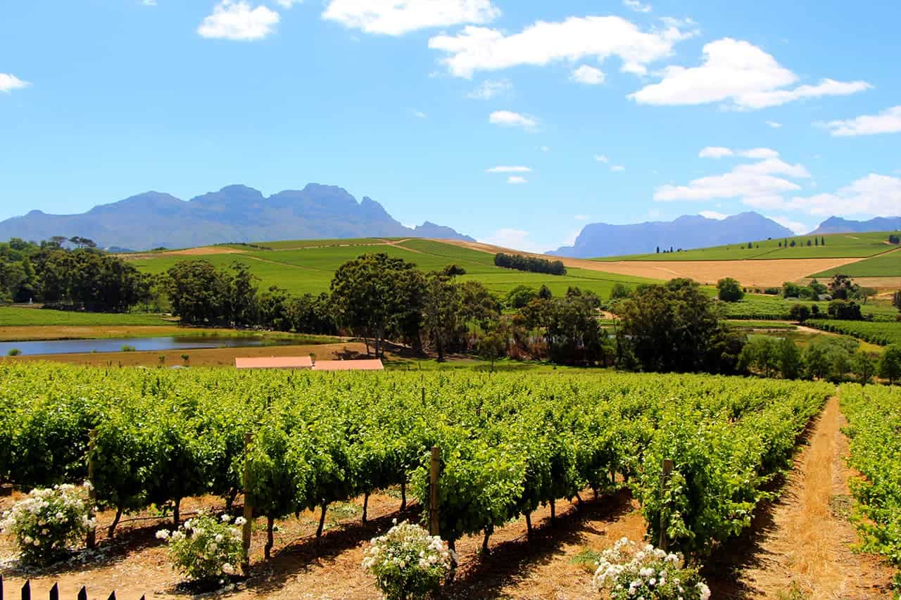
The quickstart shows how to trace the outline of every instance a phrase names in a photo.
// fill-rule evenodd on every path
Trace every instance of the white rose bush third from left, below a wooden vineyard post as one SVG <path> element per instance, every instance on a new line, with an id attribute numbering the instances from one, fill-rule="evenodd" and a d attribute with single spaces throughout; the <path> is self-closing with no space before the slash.
<path id="1" fill-rule="evenodd" d="M 424 598 L 441 586 L 457 559 L 453 550 L 423 527 L 397 523 L 373 538 L 363 555 L 363 569 L 376 577 L 388 600 Z"/>

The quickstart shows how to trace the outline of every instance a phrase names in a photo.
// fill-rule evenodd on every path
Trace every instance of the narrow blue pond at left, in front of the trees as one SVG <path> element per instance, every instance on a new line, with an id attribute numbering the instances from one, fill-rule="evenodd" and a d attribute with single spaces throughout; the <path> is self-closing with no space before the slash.
<path id="1" fill-rule="evenodd" d="M 0 356 L 19 350 L 21 356 L 37 354 L 89 354 L 91 352 L 121 352 L 123 346 L 136 351 L 198 350 L 205 348 L 250 348 L 259 346 L 287 346 L 296 341 L 263 340 L 253 337 L 178 336 L 161 338 L 110 338 L 105 340 L 46 340 L 0 342 Z"/>

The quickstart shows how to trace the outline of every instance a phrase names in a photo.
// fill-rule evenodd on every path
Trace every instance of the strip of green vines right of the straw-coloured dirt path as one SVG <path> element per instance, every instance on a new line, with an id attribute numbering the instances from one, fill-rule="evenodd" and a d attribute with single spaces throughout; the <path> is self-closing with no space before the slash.
<path id="1" fill-rule="evenodd" d="M 851 486 L 863 549 L 901 568 L 901 394 L 895 387 L 848 384 L 840 396 L 850 425 L 850 464 L 863 475 Z"/>

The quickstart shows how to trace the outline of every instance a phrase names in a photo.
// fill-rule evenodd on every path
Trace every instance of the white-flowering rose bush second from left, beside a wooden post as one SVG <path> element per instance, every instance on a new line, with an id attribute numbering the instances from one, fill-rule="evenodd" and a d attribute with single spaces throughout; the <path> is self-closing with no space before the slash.
<path id="1" fill-rule="evenodd" d="M 168 540 L 173 568 L 195 581 L 233 575 L 244 557 L 241 530 L 244 519 L 223 514 L 198 514 L 188 519 L 175 532 L 160 530 L 157 538 Z"/>

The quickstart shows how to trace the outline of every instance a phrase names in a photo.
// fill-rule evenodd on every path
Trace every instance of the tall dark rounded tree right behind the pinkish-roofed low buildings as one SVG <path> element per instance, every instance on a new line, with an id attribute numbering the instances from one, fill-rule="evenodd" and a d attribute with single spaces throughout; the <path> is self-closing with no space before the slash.
<path id="1" fill-rule="evenodd" d="M 404 312 L 404 298 L 397 294 L 402 279 L 415 265 L 392 259 L 385 253 L 364 254 L 348 260 L 332 277 L 335 321 L 363 335 L 369 353 L 373 341 L 376 356 L 384 356 L 388 326 Z"/>

